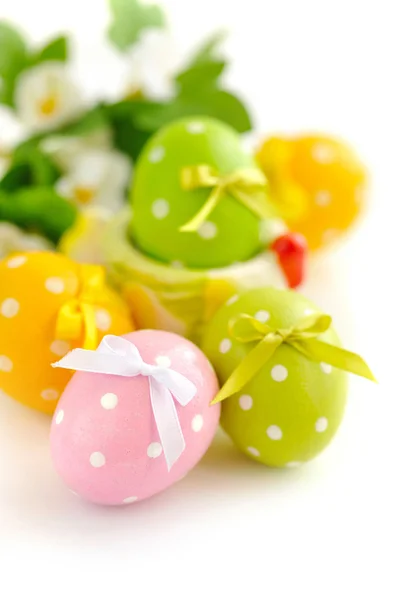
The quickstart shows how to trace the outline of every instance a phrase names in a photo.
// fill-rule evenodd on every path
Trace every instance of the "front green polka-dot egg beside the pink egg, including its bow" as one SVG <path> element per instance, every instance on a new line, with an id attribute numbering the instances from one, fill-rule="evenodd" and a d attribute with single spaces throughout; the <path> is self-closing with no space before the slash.
<path id="1" fill-rule="evenodd" d="M 202 347 L 222 385 L 222 427 L 271 467 L 299 465 L 330 443 L 344 415 L 347 372 L 373 379 L 360 356 L 341 348 L 331 318 L 293 291 L 232 297 Z"/>

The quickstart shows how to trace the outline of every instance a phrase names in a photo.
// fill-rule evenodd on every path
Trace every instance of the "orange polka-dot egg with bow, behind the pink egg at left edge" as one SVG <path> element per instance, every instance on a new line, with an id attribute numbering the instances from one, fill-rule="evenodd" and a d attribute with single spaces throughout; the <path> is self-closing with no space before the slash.
<path id="1" fill-rule="evenodd" d="M 102 267 L 53 252 L 0 261 L 0 392 L 52 414 L 72 372 L 51 364 L 69 350 L 95 349 L 133 324 Z"/>

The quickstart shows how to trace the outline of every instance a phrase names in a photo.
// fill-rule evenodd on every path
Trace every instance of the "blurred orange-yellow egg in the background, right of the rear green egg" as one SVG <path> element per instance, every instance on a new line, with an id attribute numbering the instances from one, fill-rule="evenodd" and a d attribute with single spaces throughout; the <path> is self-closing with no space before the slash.
<path id="1" fill-rule="evenodd" d="M 271 137 L 257 153 L 271 197 L 310 250 L 335 241 L 365 204 L 367 172 L 342 141 L 314 135 Z"/>

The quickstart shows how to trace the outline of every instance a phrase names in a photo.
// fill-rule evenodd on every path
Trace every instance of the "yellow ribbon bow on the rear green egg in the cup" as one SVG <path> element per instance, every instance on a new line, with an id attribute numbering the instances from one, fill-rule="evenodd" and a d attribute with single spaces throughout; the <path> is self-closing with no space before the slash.
<path id="1" fill-rule="evenodd" d="M 248 167 L 237 169 L 228 175 L 219 175 L 210 165 L 194 165 L 183 167 L 180 183 L 186 191 L 199 188 L 213 190 L 203 207 L 179 231 L 197 231 L 226 194 L 233 196 L 260 219 L 273 216 L 268 202 L 267 179 L 259 169 Z"/>

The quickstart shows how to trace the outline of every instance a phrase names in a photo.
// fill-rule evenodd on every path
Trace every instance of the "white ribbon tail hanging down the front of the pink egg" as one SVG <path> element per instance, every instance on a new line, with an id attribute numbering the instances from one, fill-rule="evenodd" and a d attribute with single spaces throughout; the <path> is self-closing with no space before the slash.
<path id="1" fill-rule="evenodd" d="M 154 377 L 149 377 L 151 405 L 165 455 L 168 471 L 185 450 L 186 442 L 181 430 L 172 394 Z"/>

